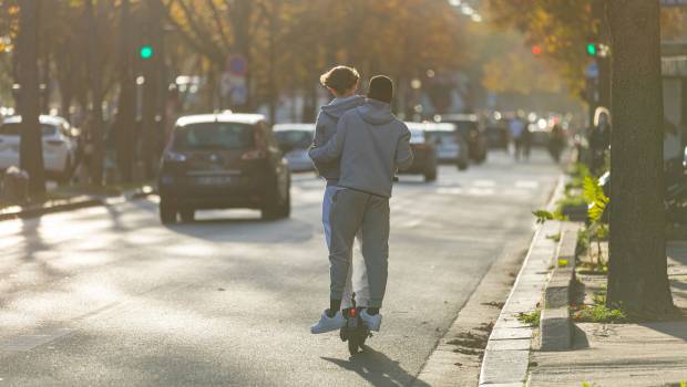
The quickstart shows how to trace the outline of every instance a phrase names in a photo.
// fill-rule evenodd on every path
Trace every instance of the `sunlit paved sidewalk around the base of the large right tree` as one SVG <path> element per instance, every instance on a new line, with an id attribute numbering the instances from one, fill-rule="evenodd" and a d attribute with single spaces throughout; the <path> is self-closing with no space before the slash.
<path id="1" fill-rule="evenodd" d="M 674 302 L 687 312 L 686 241 L 668 244 L 668 273 Z M 529 372 L 531 387 L 680 386 L 687 380 L 687 318 L 575 324 L 574 349 L 535 351 Z"/>

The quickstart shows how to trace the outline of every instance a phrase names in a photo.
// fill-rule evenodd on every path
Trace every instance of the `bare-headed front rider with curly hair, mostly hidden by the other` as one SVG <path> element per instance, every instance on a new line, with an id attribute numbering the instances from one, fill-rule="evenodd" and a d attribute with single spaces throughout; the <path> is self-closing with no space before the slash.
<path id="1" fill-rule="evenodd" d="M 322 146 L 334 137 L 337 132 L 339 118 L 344 113 L 365 103 L 365 97 L 356 94 L 359 80 L 360 75 L 356 69 L 342 65 L 335 66 L 320 76 L 320 83 L 322 86 L 327 87 L 335 98 L 328 105 L 322 106 L 317 116 L 315 138 L 312 142 L 314 147 Z M 331 228 L 329 227 L 331 198 L 334 194 L 340 189 L 337 186 L 339 180 L 339 161 L 314 163 L 319 175 L 327 180 L 325 197 L 322 198 L 322 227 L 327 248 L 329 248 L 331 241 Z M 352 293 L 356 294 L 357 306 L 368 306 L 369 285 L 362 259 L 357 257 L 357 254 L 351 257 L 351 259 L 352 264 L 344 291 L 341 310 L 352 306 Z"/>

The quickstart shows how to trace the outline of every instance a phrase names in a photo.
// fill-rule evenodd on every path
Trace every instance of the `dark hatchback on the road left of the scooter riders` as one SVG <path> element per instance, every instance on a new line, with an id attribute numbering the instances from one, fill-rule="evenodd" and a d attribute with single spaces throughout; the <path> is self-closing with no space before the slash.
<path id="1" fill-rule="evenodd" d="M 264 219 L 290 215 L 290 172 L 258 114 L 177 119 L 158 174 L 160 219 L 193 221 L 202 209 L 253 208 Z"/>

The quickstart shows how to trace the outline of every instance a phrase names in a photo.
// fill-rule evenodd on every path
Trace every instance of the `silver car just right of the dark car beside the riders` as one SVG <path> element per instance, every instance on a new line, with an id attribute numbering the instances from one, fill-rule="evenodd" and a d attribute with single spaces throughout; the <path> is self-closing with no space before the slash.
<path id="1" fill-rule="evenodd" d="M 470 165 L 468 143 L 458 133 L 454 124 L 428 123 L 427 132 L 437 148 L 439 163 L 454 164 L 458 169 L 465 170 Z"/>

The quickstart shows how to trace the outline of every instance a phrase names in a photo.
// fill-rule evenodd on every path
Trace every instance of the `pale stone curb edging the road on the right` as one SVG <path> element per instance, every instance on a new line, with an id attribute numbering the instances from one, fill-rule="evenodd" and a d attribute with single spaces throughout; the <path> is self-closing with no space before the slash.
<path id="1" fill-rule="evenodd" d="M 563 191 L 564 177 L 561 176 L 548 202 L 550 209 Z M 513 387 L 525 383 L 534 328 L 521 323 L 517 316 L 533 312 L 541 304 L 551 260 L 558 250 L 558 243 L 547 237 L 560 230 L 558 221 L 547 221 L 537 228 L 515 284 L 489 336 L 479 386 Z"/>

